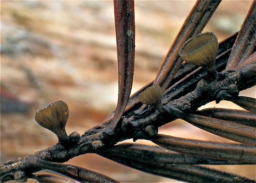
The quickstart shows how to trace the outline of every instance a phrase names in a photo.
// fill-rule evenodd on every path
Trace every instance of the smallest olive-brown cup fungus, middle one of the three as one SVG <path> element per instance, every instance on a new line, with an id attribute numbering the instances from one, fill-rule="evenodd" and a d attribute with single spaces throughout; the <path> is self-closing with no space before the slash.
<path id="1" fill-rule="evenodd" d="M 156 107 L 157 111 L 164 113 L 165 109 L 162 105 L 162 90 L 157 84 L 154 84 L 140 93 L 139 100 L 143 104 Z"/>

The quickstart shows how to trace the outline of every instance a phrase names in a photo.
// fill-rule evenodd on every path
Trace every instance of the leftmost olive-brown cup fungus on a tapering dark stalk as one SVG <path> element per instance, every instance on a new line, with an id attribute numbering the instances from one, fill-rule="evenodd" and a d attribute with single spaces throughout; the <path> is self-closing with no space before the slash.
<path id="1" fill-rule="evenodd" d="M 65 130 L 68 117 L 68 105 L 63 101 L 58 101 L 41 109 L 36 113 L 35 119 L 40 126 L 54 132 L 59 139 L 59 144 L 64 145 L 69 141 Z"/>

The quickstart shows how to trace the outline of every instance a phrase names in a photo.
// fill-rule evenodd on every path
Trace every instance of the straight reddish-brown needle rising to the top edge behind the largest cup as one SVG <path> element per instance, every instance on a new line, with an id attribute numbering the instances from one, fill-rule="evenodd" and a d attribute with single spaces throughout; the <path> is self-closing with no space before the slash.
<path id="1" fill-rule="evenodd" d="M 204 29 L 220 2 L 221 0 L 198 0 L 192 8 L 154 80 L 154 84 L 161 86 L 163 92 L 170 85 L 171 80 L 183 63 L 178 54 L 181 46 L 183 46 L 187 39 L 195 37 Z"/>

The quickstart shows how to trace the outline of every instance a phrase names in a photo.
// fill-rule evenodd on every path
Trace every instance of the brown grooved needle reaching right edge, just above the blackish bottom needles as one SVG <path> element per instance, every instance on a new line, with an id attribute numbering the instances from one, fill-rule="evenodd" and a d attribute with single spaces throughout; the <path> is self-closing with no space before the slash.
<path id="1" fill-rule="evenodd" d="M 250 164 L 256 163 L 255 148 L 243 144 L 185 139 L 164 134 L 150 137 L 149 140 L 161 147 L 178 153 L 214 158 L 216 160 L 235 160 Z"/>

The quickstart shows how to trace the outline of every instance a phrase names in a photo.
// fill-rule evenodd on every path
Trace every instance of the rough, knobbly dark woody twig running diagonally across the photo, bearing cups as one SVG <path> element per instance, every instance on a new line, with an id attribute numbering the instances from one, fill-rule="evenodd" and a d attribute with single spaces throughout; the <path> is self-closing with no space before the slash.
<path id="1" fill-rule="evenodd" d="M 255 85 L 256 73 L 252 72 L 256 63 L 243 67 L 241 70 L 235 70 L 223 73 L 223 78 L 212 82 L 204 80 L 199 81 L 197 88 L 180 97 L 176 100 L 168 102 L 164 107 L 167 111 L 171 111 L 176 107 L 180 111 L 193 113 L 202 105 L 216 100 L 218 93 L 222 90 L 228 90 L 230 85 L 237 85 L 239 91 L 245 90 Z M 243 83 L 241 81 L 247 81 Z M 147 116 L 147 118 L 145 118 Z M 121 129 L 117 129 L 117 133 L 107 135 L 105 128 L 101 125 L 94 127 L 85 132 L 77 144 L 73 144 L 68 149 L 65 149 L 60 144 L 56 144 L 50 148 L 30 155 L 24 158 L 17 158 L 0 164 L 0 181 L 5 182 L 14 180 L 14 174 L 18 171 L 23 171 L 26 174 L 39 171 L 34 170 L 33 166 L 27 161 L 29 157 L 38 156 L 42 160 L 50 162 L 66 162 L 69 159 L 85 153 L 100 153 L 106 150 L 106 147 L 113 146 L 119 141 L 125 139 L 143 139 L 147 134 L 148 126 L 160 127 L 166 123 L 175 120 L 177 117 L 171 114 L 159 114 L 154 107 L 141 108 L 135 111 L 135 114 L 130 118 L 124 118 Z M 43 169 L 43 168 L 42 168 Z"/>

